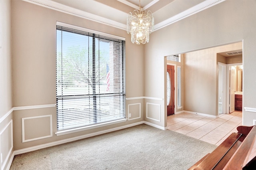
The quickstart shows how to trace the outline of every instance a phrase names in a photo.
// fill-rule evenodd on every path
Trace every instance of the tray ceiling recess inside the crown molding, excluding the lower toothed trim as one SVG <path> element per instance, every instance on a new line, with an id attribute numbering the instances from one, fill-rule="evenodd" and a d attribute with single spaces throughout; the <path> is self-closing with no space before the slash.
<path id="1" fill-rule="evenodd" d="M 139 0 L 52 0 L 72 8 L 89 12 L 126 24 L 129 12 L 139 9 Z M 155 24 L 200 4 L 204 0 L 141 0 L 141 8 L 150 10 Z"/>

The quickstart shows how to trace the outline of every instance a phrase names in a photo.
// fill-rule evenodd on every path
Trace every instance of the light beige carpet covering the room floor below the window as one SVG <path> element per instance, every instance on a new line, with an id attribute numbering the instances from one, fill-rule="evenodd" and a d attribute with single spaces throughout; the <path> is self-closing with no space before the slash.
<path id="1" fill-rule="evenodd" d="M 14 156 L 11 170 L 186 170 L 217 146 L 148 125 Z"/>

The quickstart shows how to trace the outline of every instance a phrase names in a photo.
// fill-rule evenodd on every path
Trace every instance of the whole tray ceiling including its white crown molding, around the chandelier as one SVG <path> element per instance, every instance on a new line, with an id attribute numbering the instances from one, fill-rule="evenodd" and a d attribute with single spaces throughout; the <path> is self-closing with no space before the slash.
<path id="1" fill-rule="evenodd" d="M 129 12 L 139 8 L 139 0 L 24 0 L 82 18 L 126 30 Z M 225 0 L 141 0 L 141 8 L 153 13 L 158 30 Z"/>

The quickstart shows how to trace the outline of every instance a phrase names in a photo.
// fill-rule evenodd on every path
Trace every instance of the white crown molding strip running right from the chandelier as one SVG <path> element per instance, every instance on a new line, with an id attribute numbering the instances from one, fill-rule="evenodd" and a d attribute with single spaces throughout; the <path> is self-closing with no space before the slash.
<path id="1" fill-rule="evenodd" d="M 164 20 L 163 22 L 155 24 L 154 31 L 160 30 L 161 28 L 169 26 L 177 21 L 180 21 L 184 18 L 192 16 L 200 11 L 206 10 L 207 8 L 210 8 L 210 7 L 217 5 L 224 1 L 225 0 L 205 0 L 204 2 L 201 2 L 200 4 L 197 4 L 196 6 L 193 6 L 192 8 L 189 8 L 188 10 L 185 10 L 185 11 L 181 12 L 180 14 L 177 14 L 171 18 L 168 18 L 167 20 Z"/>

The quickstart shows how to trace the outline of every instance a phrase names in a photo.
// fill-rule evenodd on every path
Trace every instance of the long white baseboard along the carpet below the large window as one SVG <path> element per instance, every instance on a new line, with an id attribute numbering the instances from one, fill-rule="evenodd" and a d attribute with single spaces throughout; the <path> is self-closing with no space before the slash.
<path id="1" fill-rule="evenodd" d="M 140 124 L 143 124 L 143 123 L 144 123 L 144 121 L 141 121 L 141 122 L 132 123 L 132 124 L 129 124 L 129 125 L 124 125 L 124 126 L 121 126 L 121 127 L 111 128 L 111 129 L 102 130 L 102 131 L 99 131 L 99 132 L 94 132 L 94 133 L 85 134 L 85 135 L 82 135 L 82 136 L 77 136 L 77 137 L 74 137 L 74 138 L 68 138 L 68 139 L 59 140 L 59 141 L 56 141 L 56 142 L 50 142 L 50 143 L 41 144 L 41 145 L 38 145 L 38 146 L 33 146 L 33 147 L 30 147 L 30 148 L 15 150 L 14 155 L 23 154 L 23 153 L 26 153 L 26 152 L 31 152 L 31 151 L 39 150 L 39 149 L 43 149 L 43 148 L 48 148 L 50 146 L 56 146 L 56 145 L 64 144 L 64 143 L 67 143 L 67 142 L 73 142 L 75 140 L 89 138 L 89 137 L 92 137 L 92 136 L 97 136 L 99 134 L 113 132 L 113 131 L 121 130 L 121 129 L 128 128 L 128 127 L 133 127 L 133 126 L 140 125 Z"/>

